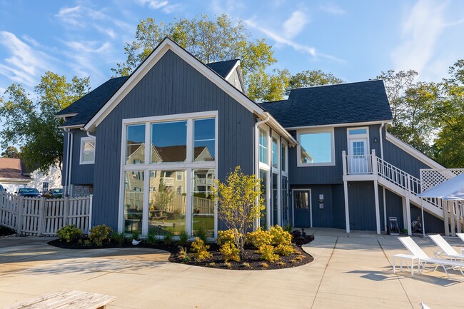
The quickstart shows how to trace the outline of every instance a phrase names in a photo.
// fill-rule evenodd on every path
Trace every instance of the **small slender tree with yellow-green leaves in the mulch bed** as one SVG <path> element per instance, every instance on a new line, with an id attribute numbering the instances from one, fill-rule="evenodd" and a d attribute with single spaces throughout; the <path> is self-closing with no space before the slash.
<path id="1" fill-rule="evenodd" d="M 226 178 L 226 183 L 216 180 L 213 192 L 218 201 L 218 218 L 233 231 L 235 244 L 242 254 L 246 232 L 261 218 L 265 208 L 261 179 L 244 175 L 237 166 Z"/>

